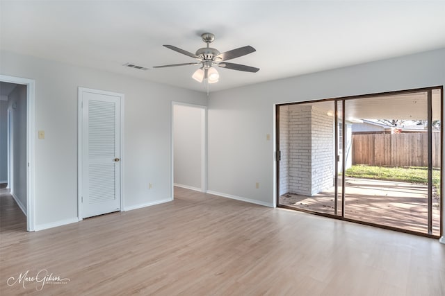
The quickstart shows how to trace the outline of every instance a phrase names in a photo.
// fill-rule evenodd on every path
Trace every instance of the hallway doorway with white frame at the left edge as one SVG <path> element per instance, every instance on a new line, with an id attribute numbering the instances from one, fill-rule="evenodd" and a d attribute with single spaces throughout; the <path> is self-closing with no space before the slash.
<path id="1" fill-rule="evenodd" d="M 26 224 L 26 230 L 29 232 L 35 229 L 34 85 L 35 81 L 31 79 L 0 75 L 2 230 L 11 221 L 19 223 L 15 227 L 17 230 L 22 224 L 23 228 Z M 3 211 L 15 214 L 8 216 Z M 21 215 L 20 211 L 26 218 L 17 218 Z"/>

